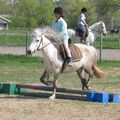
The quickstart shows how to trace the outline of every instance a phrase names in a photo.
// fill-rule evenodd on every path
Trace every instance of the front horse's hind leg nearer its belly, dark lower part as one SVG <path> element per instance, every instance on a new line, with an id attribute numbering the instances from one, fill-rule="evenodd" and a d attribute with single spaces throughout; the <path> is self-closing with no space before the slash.
<path id="1" fill-rule="evenodd" d="M 88 90 L 89 86 L 88 86 L 88 82 L 87 80 L 84 78 L 84 71 L 83 71 L 83 68 L 80 68 L 79 70 L 76 71 L 80 80 L 81 80 L 81 83 L 82 83 L 82 90 Z"/>

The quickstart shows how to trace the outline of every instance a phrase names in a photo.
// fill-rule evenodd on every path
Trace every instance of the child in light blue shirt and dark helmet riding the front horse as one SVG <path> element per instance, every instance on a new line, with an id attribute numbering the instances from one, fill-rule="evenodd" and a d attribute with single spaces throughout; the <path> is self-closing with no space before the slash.
<path id="1" fill-rule="evenodd" d="M 52 23 L 52 27 L 60 33 L 61 39 L 63 40 L 63 44 L 65 46 L 66 52 L 67 52 L 67 63 L 68 65 L 72 64 L 72 56 L 71 56 L 71 52 L 68 46 L 68 40 L 69 40 L 69 36 L 68 36 L 68 32 L 67 32 L 67 23 L 66 21 L 63 19 L 63 9 L 61 7 L 56 7 L 54 9 L 54 15 L 55 15 L 55 20 Z"/>

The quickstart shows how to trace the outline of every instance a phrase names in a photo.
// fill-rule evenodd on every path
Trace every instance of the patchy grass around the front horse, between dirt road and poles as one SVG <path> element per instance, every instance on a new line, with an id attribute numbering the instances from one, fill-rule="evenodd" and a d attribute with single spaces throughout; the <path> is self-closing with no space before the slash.
<path id="1" fill-rule="evenodd" d="M 43 72 L 42 58 L 32 56 L 0 55 L 0 81 L 38 83 Z M 120 91 L 120 61 L 98 62 L 106 76 L 91 80 L 93 90 Z M 50 78 L 52 79 L 52 78 Z M 65 88 L 81 88 L 76 73 L 65 73 L 59 76 L 58 86 Z"/>

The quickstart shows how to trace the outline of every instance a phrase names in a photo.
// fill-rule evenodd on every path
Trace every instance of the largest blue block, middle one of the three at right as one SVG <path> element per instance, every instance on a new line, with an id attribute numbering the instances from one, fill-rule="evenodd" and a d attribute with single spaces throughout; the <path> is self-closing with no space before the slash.
<path id="1" fill-rule="evenodd" d="M 109 93 L 108 92 L 96 92 L 93 97 L 94 102 L 103 102 L 108 103 L 109 101 Z"/>

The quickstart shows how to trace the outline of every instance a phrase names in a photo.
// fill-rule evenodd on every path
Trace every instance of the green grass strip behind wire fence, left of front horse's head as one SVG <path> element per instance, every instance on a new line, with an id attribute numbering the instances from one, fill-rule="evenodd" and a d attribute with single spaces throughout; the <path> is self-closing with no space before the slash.
<path id="1" fill-rule="evenodd" d="M 0 46 L 7 47 L 25 47 L 27 50 L 31 42 L 32 29 L 10 29 L 0 31 Z"/>

